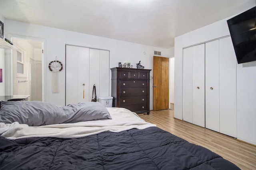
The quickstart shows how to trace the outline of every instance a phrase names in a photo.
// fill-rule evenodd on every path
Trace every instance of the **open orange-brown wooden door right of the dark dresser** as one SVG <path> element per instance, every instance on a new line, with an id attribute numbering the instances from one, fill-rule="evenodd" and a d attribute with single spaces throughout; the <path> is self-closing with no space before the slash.
<path id="1" fill-rule="evenodd" d="M 169 58 L 153 57 L 153 110 L 169 108 Z"/>

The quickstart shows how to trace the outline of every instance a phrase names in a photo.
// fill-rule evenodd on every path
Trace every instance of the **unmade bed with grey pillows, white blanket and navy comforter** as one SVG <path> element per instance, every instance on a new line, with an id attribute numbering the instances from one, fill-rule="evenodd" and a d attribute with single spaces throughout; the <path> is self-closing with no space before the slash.
<path id="1" fill-rule="evenodd" d="M 98 102 L 54 106 L 4 102 L 0 169 L 238 170 L 124 108 Z"/>

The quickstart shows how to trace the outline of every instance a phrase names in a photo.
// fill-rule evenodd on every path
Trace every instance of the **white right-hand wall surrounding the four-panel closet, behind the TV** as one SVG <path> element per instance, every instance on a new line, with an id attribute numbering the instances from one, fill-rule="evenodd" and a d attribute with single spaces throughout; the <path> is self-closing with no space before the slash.
<path id="1" fill-rule="evenodd" d="M 255 3 L 251 4 L 252 8 Z M 231 18 L 231 17 L 230 17 Z M 228 19 L 228 18 L 227 18 Z M 174 117 L 182 118 L 183 48 L 230 35 L 226 20 L 212 23 L 175 38 Z M 237 138 L 256 145 L 256 61 L 237 64 Z"/>

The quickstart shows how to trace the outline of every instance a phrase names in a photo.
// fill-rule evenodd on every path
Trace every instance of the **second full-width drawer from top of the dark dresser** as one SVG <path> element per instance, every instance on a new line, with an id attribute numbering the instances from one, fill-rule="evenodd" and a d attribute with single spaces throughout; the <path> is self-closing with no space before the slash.
<path id="1" fill-rule="evenodd" d="M 120 88 L 120 97 L 122 96 L 146 96 L 147 88 Z"/>

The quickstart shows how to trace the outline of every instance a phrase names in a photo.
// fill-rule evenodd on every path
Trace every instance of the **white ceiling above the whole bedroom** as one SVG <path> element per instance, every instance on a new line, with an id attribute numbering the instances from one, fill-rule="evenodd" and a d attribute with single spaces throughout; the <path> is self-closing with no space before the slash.
<path id="1" fill-rule="evenodd" d="M 161 47 L 228 18 L 256 0 L 0 0 L 7 20 Z"/>

